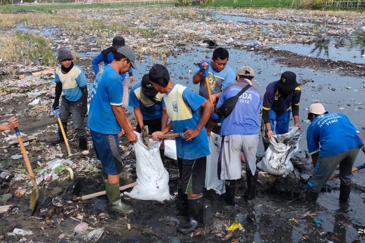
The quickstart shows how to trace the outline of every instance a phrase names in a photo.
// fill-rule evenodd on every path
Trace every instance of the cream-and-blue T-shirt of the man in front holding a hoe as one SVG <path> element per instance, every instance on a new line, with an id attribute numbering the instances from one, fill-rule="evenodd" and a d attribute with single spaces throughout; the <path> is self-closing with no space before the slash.
<path id="1" fill-rule="evenodd" d="M 204 103 L 205 98 L 187 87 L 174 85 L 168 94 L 164 94 L 164 101 L 174 133 L 181 132 L 181 129 L 187 127 L 195 128 L 198 125 L 200 117 L 197 109 Z M 191 141 L 177 137 L 175 142 L 179 158 L 195 160 L 210 154 L 208 136 L 204 128 Z"/>

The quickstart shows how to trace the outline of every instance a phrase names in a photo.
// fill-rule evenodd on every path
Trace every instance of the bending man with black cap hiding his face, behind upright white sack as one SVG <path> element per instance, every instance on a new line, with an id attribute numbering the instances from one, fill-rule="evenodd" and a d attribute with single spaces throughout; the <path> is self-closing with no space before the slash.
<path id="1" fill-rule="evenodd" d="M 148 132 L 163 130 L 168 122 L 167 111 L 164 103 L 164 95 L 158 93 L 148 79 L 149 74 L 145 74 L 142 82 L 135 83 L 129 96 L 129 105 L 133 107 L 134 115 L 137 119 L 136 132 L 141 132 L 143 125 L 148 126 Z M 160 146 L 161 160 L 164 161 L 165 144 L 162 141 Z"/>

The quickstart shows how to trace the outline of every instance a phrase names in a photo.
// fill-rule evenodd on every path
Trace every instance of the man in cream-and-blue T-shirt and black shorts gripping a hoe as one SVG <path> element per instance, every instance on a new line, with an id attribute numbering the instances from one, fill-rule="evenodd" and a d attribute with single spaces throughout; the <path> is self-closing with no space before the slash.
<path id="1" fill-rule="evenodd" d="M 190 128 L 184 133 L 186 140 L 180 137 L 175 139 L 181 182 L 178 197 L 183 207 L 180 216 L 190 216 L 189 222 L 177 230 L 183 233 L 193 232 L 203 225 L 205 169 L 210 154 L 204 125 L 214 106 L 191 89 L 173 83 L 166 67 L 160 64 L 151 67 L 149 79 L 153 87 L 164 94 L 167 114 L 171 119 L 165 129 L 152 134 L 153 139 L 159 140 L 158 135 L 166 134 L 171 129 L 178 133 L 184 128 Z M 200 107 L 203 108 L 201 117 L 197 113 Z"/>

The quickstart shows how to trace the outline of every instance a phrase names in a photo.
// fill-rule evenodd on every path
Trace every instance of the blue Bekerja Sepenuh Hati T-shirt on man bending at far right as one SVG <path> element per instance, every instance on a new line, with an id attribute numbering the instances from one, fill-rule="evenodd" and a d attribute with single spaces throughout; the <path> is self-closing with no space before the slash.
<path id="1" fill-rule="evenodd" d="M 329 157 L 361 146 L 363 142 L 346 115 L 328 113 L 314 118 L 309 125 L 307 145 L 309 154 L 319 151 L 320 157 Z"/>

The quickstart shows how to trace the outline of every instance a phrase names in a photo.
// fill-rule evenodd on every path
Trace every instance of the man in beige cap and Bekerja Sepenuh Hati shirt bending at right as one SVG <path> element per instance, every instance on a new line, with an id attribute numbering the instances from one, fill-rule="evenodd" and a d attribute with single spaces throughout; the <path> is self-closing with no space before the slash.
<path id="1" fill-rule="evenodd" d="M 307 145 L 314 172 L 308 181 L 306 199 L 308 203 L 316 202 L 320 189 L 339 166 L 339 200 L 346 202 L 351 191 L 352 167 L 361 147 L 365 153 L 364 138 L 346 115 L 328 113 L 320 103 L 308 107 L 308 119 L 311 124 Z"/>

